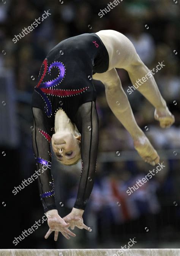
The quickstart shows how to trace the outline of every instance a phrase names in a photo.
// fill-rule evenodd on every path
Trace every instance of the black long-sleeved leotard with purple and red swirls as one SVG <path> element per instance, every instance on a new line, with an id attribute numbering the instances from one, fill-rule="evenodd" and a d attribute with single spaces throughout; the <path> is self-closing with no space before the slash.
<path id="1" fill-rule="evenodd" d="M 32 97 L 32 143 L 37 170 L 41 170 L 38 184 L 45 212 L 56 209 L 50 142 L 59 109 L 65 111 L 81 133 L 82 172 L 74 207 L 85 209 L 93 188 L 98 149 L 92 74 L 106 72 L 108 66 L 108 52 L 95 33 L 63 40 L 43 61 Z"/>

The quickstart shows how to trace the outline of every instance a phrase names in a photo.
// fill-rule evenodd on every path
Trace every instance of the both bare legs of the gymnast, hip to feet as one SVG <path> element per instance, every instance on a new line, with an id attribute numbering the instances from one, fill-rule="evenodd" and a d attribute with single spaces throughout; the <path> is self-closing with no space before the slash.
<path id="1" fill-rule="evenodd" d="M 144 65 L 133 44 L 125 35 L 114 30 L 101 30 L 96 34 L 101 38 L 108 51 L 109 68 L 105 73 L 93 75 L 93 79 L 104 83 L 107 103 L 133 138 L 134 147 L 139 155 L 149 164 L 158 164 L 159 156 L 144 132 L 137 125 L 128 97 L 123 91 L 115 68 L 125 69 L 132 84 L 135 84 L 136 80 L 141 79 L 143 76 L 147 76 L 150 70 Z M 120 54 L 117 54 L 117 52 L 120 52 Z M 170 127 L 175 121 L 174 116 L 167 108 L 153 75 L 149 76 L 148 80 L 139 86 L 137 90 L 155 107 L 155 119 L 160 122 L 160 126 L 162 128 Z M 120 105 L 117 105 L 117 101 Z"/>

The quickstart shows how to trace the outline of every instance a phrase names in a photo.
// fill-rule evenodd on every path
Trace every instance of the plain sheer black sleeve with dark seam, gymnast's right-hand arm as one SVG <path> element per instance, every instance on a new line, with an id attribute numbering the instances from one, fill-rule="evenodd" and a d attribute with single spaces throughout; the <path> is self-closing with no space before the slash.
<path id="1" fill-rule="evenodd" d="M 87 102 L 79 107 L 76 114 L 76 126 L 81 133 L 82 171 L 77 199 L 74 208 L 85 209 L 91 195 L 96 172 L 98 152 L 99 120 L 95 102 Z"/>

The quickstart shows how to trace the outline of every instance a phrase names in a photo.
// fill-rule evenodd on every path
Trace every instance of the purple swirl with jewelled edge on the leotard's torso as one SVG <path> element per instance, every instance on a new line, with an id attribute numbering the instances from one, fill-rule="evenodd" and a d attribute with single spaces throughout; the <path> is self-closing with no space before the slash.
<path id="1" fill-rule="evenodd" d="M 48 72 L 51 72 L 51 68 L 52 67 L 57 67 L 60 70 L 60 74 L 59 76 L 53 80 L 53 81 L 48 81 L 48 82 L 44 82 L 43 84 L 41 84 L 39 86 L 39 88 L 48 88 L 48 87 L 52 87 L 57 85 L 58 83 L 60 83 L 60 81 L 63 79 L 64 75 L 65 75 L 65 67 L 61 62 L 54 62 L 49 66 Z"/>

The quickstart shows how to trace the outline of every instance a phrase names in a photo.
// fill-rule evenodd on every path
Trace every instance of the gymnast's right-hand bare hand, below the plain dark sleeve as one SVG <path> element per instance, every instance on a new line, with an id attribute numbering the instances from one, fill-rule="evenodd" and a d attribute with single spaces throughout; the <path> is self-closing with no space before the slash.
<path id="1" fill-rule="evenodd" d="M 92 229 L 83 223 L 83 213 L 84 210 L 73 208 L 72 211 L 63 219 L 66 221 L 66 223 L 70 224 L 71 229 L 74 229 L 74 227 L 78 227 L 79 229 L 86 229 L 87 231 L 91 232 Z"/>

